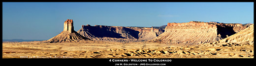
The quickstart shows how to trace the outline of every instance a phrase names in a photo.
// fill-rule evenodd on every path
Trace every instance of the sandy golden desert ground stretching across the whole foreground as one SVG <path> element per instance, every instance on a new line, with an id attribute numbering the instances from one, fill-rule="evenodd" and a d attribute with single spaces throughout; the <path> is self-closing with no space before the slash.
<path id="1" fill-rule="evenodd" d="M 254 58 L 254 44 L 2 43 L 2 58 Z"/>

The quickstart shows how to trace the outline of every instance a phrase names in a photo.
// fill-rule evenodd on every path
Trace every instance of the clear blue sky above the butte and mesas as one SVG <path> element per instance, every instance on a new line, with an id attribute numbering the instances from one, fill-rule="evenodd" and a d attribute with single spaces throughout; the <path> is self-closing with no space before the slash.
<path id="1" fill-rule="evenodd" d="M 140 26 L 168 22 L 253 23 L 253 2 L 2 2 L 2 39 L 48 40 L 67 19 L 82 25 Z"/>

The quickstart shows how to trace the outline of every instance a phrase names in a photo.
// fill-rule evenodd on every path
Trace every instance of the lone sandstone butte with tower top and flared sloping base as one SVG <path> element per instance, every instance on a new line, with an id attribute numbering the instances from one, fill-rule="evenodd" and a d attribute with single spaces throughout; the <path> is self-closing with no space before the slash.
<path id="1" fill-rule="evenodd" d="M 74 31 L 73 20 L 66 20 L 64 22 L 63 31 L 59 35 L 45 41 L 44 43 L 79 42 L 85 40 L 91 39 L 83 37 Z"/>

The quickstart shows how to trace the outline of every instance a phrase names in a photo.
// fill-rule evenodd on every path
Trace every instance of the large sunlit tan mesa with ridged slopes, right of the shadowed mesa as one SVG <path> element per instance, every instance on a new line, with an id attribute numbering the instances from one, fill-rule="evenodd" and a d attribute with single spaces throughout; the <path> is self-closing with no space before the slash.
<path id="1" fill-rule="evenodd" d="M 165 32 L 150 42 L 173 44 L 212 43 L 231 36 L 243 29 L 239 23 L 183 22 L 168 23 Z"/>

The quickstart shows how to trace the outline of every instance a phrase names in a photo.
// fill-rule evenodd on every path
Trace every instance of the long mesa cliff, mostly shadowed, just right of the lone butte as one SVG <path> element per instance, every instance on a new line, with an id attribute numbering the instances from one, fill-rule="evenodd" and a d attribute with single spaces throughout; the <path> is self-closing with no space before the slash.
<path id="1" fill-rule="evenodd" d="M 154 39 L 163 33 L 163 30 L 149 27 L 91 26 L 88 24 L 82 25 L 77 32 L 93 40 L 137 42 Z"/>

